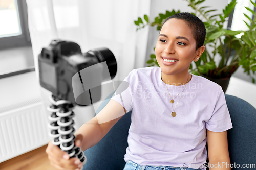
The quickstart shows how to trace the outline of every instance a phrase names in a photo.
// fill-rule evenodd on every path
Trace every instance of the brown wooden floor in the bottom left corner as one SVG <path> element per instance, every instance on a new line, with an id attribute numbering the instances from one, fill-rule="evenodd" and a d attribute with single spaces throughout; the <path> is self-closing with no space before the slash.
<path id="1" fill-rule="evenodd" d="M 46 154 L 47 145 L 0 163 L 1 170 L 56 170 Z"/>

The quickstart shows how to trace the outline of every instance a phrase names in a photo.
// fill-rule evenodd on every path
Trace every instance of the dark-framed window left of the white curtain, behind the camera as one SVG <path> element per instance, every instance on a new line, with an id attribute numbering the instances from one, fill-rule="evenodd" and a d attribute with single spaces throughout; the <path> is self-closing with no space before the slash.
<path id="1" fill-rule="evenodd" d="M 34 70 L 26 0 L 0 0 L 0 78 Z"/>

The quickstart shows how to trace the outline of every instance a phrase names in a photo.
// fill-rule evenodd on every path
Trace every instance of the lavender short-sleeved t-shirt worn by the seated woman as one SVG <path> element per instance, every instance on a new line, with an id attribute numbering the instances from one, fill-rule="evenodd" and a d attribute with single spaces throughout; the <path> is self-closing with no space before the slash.
<path id="1" fill-rule="evenodd" d="M 166 84 L 172 98 L 177 95 L 172 107 L 159 67 L 134 69 L 124 81 L 129 88 L 121 98 L 112 99 L 132 110 L 125 162 L 205 169 L 199 166 L 207 159 L 206 129 L 223 132 L 232 128 L 221 86 L 192 75 L 177 95 L 185 85 Z"/>

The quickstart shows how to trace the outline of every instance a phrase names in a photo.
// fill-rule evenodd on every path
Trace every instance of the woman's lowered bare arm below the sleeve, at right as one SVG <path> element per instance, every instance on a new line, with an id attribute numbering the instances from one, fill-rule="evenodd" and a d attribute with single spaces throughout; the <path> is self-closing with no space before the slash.
<path id="1" fill-rule="evenodd" d="M 231 169 L 228 153 L 227 131 L 212 132 L 206 129 L 206 133 L 210 170 Z"/>

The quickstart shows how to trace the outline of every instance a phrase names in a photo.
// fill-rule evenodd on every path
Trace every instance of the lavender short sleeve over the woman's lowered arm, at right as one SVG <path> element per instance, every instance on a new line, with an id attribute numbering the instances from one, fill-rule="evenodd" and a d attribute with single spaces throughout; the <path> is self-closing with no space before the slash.
<path id="1" fill-rule="evenodd" d="M 205 122 L 205 127 L 212 132 L 223 132 L 233 127 L 225 95 L 221 87 L 219 88 L 214 111 L 208 122 Z"/>

